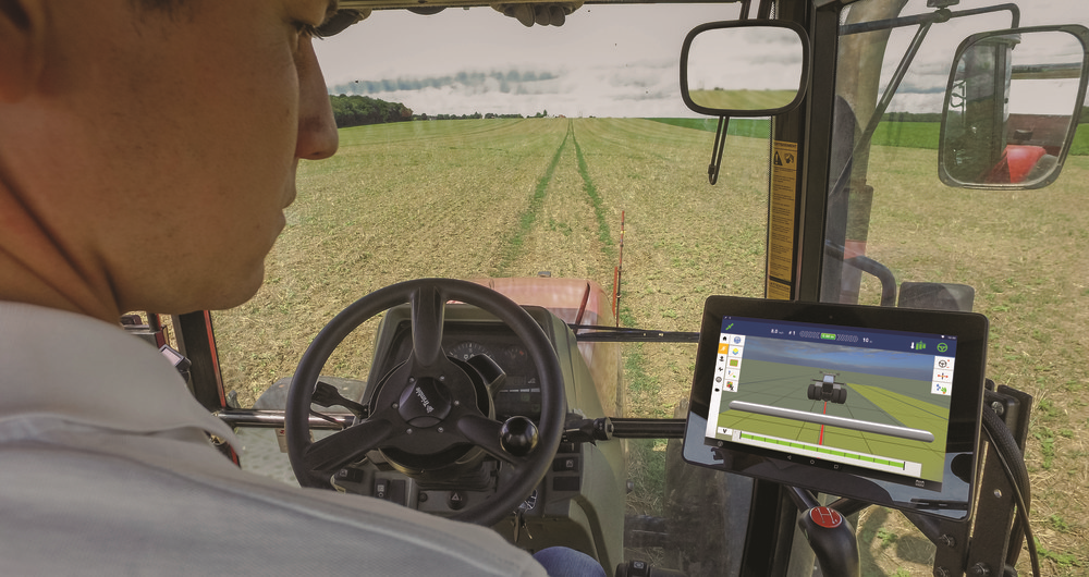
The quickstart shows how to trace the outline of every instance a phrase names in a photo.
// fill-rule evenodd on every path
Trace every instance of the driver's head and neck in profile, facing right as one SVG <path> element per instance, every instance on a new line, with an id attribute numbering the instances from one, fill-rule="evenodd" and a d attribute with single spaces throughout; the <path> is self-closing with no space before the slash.
<path id="1" fill-rule="evenodd" d="M 337 148 L 329 0 L 0 0 L 0 298 L 237 305 Z"/>

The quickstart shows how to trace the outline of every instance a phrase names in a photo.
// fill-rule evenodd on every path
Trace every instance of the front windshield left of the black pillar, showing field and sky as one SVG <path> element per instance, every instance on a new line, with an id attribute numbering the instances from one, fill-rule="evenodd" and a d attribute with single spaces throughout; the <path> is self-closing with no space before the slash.
<path id="1" fill-rule="evenodd" d="M 684 35 L 737 13 L 595 5 L 527 28 L 490 8 L 390 10 L 316 42 L 340 123 L 401 108 L 301 164 L 264 288 L 215 319 L 227 389 L 250 406 L 337 312 L 408 279 L 547 271 L 611 300 L 623 258 L 620 324 L 665 331 L 698 331 L 707 295 L 761 296 L 768 121 L 732 123 L 711 188 L 714 120 L 677 82 Z M 365 379 L 372 330 L 326 372 Z M 625 345 L 629 415 L 672 417 L 690 386 L 695 346 L 654 346 Z"/>

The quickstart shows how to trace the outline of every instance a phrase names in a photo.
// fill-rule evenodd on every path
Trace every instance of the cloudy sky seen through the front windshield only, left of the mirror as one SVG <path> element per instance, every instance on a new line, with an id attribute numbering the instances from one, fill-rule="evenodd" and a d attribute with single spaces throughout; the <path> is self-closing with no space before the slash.
<path id="1" fill-rule="evenodd" d="M 684 35 L 736 7 L 592 5 L 525 28 L 490 8 L 381 11 L 315 46 L 331 94 L 428 114 L 685 116 Z"/>

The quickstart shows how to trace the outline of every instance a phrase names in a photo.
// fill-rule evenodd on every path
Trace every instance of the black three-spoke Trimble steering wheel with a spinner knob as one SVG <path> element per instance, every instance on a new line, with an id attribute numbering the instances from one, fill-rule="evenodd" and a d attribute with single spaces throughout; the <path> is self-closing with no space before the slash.
<path id="1" fill-rule="evenodd" d="M 503 321 L 522 339 L 537 367 L 541 389 L 540 435 L 524 417 L 491 418 L 490 400 L 457 361 L 442 349 L 445 303 L 475 305 Z M 412 307 L 413 349 L 379 383 L 366 419 L 319 441 L 310 440 L 309 413 L 318 375 L 333 349 L 357 327 L 397 305 Z M 374 388 L 372 388 L 374 389 Z M 484 392 L 484 394 L 487 394 Z M 481 409 L 481 407 L 486 407 Z M 511 468 L 488 499 L 468 504 L 453 518 L 491 526 L 513 512 L 552 465 L 566 413 L 563 376 L 552 343 L 537 321 L 507 297 L 486 286 L 452 279 L 393 284 L 356 300 L 327 324 L 298 363 L 287 392 L 285 434 L 291 468 L 299 484 L 330 489 L 341 468 L 381 449 L 415 462 L 425 472 L 441 455 L 479 447 Z"/>

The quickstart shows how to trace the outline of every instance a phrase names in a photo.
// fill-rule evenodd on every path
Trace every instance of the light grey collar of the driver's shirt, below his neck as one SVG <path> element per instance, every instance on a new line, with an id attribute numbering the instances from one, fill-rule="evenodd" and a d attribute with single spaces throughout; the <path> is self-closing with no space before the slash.
<path id="1" fill-rule="evenodd" d="M 135 433 L 195 427 L 234 438 L 158 351 L 119 326 L 0 302 L 0 421 L 33 414 Z"/>

